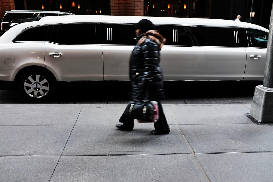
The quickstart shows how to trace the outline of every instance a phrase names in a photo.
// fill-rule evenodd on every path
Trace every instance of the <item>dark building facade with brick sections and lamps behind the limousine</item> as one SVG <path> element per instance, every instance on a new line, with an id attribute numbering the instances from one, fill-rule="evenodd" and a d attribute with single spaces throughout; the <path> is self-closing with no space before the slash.
<path id="1" fill-rule="evenodd" d="M 215 18 L 251 22 L 269 28 L 273 0 L 0 0 L 5 11 L 49 10 L 75 15 L 162 16 Z M 255 16 L 250 17 L 250 12 Z"/>

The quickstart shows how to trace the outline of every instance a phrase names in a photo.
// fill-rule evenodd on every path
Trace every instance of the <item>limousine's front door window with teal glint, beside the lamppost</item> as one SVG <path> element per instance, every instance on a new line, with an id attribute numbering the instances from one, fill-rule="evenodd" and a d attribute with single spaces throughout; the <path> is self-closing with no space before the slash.
<path id="1" fill-rule="evenodd" d="M 247 29 L 249 47 L 267 47 L 268 33 L 260 30 Z"/>

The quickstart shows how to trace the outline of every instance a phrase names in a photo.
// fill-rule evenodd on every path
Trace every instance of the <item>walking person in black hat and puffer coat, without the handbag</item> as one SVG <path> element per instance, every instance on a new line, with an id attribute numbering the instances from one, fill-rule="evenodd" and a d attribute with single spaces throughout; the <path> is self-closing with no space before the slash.
<path id="1" fill-rule="evenodd" d="M 147 19 L 134 24 L 136 40 L 138 41 L 131 53 L 129 60 L 129 76 L 132 85 L 132 99 L 144 99 L 148 93 L 148 99 L 158 102 L 159 119 L 154 123 L 151 131 L 154 135 L 168 134 L 169 125 L 163 112 L 160 100 L 165 99 L 163 72 L 160 66 L 160 49 L 166 39 L 154 30 L 154 24 Z M 121 124 L 116 124 L 120 130 L 132 131 L 134 119 L 123 114 L 119 119 Z"/>

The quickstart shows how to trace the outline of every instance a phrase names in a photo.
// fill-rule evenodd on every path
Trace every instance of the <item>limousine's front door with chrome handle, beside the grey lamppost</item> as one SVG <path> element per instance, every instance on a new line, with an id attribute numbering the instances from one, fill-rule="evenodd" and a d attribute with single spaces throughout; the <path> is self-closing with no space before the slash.
<path id="1" fill-rule="evenodd" d="M 244 80 L 263 80 L 268 33 L 255 29 L 246 30 L 249 48 L 245 48 L 247 63 Z"/>

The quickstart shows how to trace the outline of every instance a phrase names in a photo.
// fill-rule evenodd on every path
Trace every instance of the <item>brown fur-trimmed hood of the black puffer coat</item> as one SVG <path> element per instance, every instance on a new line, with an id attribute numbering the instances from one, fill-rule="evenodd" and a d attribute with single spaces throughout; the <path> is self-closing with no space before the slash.
<path id="1" fill-rule="evenodd" d="M 149 38 L 153 42 L 155 42 L 160 49 L 164 46 L 166 39 L 158 33 L 157 30 L 149 30 L 143 34 L 143 36 L 138 40 L 138 44 L 141 45 L 145 40 Z"/>

